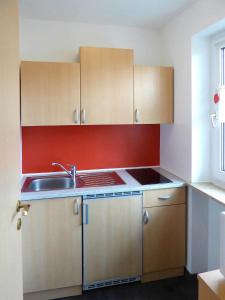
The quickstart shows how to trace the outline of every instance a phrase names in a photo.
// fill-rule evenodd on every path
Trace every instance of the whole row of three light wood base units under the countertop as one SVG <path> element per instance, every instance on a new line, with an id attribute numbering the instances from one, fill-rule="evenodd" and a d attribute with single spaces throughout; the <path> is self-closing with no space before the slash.
<path id="1" fill-rule="evenodd" d="M 24 299 L 80 294 L 81 197 L 28 203 L 22 225 Z M 146 191 L 143 203 L 142 235 L 141 195 L 83 201 L 84 286 L 142 271 L 143 282 L 183 274 L 185 189 Z"/>

